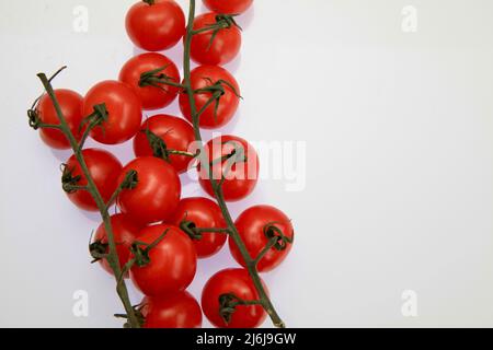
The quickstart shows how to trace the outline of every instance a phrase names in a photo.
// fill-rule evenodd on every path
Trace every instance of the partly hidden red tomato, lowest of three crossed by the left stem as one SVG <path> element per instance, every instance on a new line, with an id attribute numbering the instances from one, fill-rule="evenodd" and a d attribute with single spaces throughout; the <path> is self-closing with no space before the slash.
<path id="1" fill-rule="evenodd" d="M 113 238 L 116 243 L 116 253 L 118 254 L 119 267 L 123 268 L 128 261 L 130 256 L 130 245 L 137 237 L 140 228 L 138 224 L 133 222 L 130 218 L 125 214 L 115 214 L 111 217 Z M 101 242 L 102 244 L 107 244 L 106 229 L 104 228 L 104 222 L 98 228 L 94 242 Z M 106 249 L 106 253 L 110 248 Z M 101 266 L 110 273 L 113 275 L 113 270 L 106 259 L 100 260 Z"/>

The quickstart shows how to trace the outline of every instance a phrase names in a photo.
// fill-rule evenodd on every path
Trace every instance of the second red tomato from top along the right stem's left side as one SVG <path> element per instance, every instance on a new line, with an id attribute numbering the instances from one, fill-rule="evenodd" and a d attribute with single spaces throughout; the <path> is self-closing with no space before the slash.
<path id="1" fill-rule="evenodd" d="M 156 86 L 139 86 L 140 75 L 145 72 L 167 67 L 160 73 L 170 78 L 171 81 L 180 83 L 180 72 L 176 66 L 168 57 L 147 52 L 138 55 L 128 60 L 119 72 L 119 81 L 126 83 L 137 94 L 142 103 L 144 109 L 164 108 L 176 98 L 179 89 L 163 85 L 163 89 Z"/>

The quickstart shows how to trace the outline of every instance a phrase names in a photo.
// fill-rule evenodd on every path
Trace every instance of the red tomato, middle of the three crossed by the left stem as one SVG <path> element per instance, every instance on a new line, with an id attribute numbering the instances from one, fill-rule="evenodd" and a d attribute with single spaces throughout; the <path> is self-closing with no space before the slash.
<path id="1" fill-rule="evenodd" d="M 118 175 L 122 172 L 122 163 L 112 153 L 99 149 L 85 149 L 82 151 L 82 155 L 101 197 L 107 202 L 119 184 Z M 81 176 L 78 186 L 88 184 L 74 155 L 67 161 L 66 170 L 72 171 L 72 177 Z M 89 191 L 77 190 L 67 196 L 80 209 L 98 211 L 98 206 Z"/>

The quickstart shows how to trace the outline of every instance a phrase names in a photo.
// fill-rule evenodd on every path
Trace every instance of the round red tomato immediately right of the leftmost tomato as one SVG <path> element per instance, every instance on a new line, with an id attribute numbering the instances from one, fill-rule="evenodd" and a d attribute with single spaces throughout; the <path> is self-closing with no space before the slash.
<path id="1" fill-rule="evenodd" d="M 139 131 L 142 121 L 142 106 L 135 92 L 118 81 L 103 81 L 94 85 L 84 98 L 84 116 L 93 107 L 106 104 L 107 120 L 91 131 L 91 137 L 105 144 L 123 143 Z"/>

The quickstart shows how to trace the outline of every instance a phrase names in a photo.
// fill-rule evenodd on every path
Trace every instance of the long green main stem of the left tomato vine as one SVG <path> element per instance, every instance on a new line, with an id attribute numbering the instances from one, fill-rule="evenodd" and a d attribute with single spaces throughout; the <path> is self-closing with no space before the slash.
<path id="1" fill-rule="evenodd" d="M 115 238 L 114 238 L 114 234 L 113 234 L 111 217 L 110 217 L 110 213 L 107 210 L 107 206 L 104 202 L 103 197 L 101 197 L 101 194 L 98 190 L 94 179 L 92 178 L 91 173 L 89 172 L 88 165 L 87 165 L 85 160 L 82 154 L 82 150 L 81 150 L 80 145 L 78 144 L 72 131 L 70 130 L 70 127 L 67 124 L 67 120 L 64 116 L 64 113 L 61 112 L 60 105 L 57 101 L 57 97 L 55 95 L 55 92 L 53 90 L 50 81 L 46 78 L 46 75 L 44 73 L 39 73 L 39 74 L 37 74 L 37 77 L 42 81 L 46 92 L 48 93 L 49 97 L 51 98 L 51 102 L 55 106 L 55 110 L 57 113 L 58 119 L 60 121 L 60 129 L 70 142 L 70 145 L 74 152 L 74 156 L 80 164 L 80 167 L 82 170 L 83 175 L 85 176 L 85 179 L 88 180 L 88 185 L 87 185 L 88 190 L 91 194 L 92 198 L 94 199 L 94 201 L 98 206 L 98 209 L 100 210 L 101 218 L 103 219 L 103 223 L 104 223 L 104 229 L 106 231 L 106 237 L 107 237 L 107 243 L 108 243 L 108 248 L 110 248 L 108 256 L 107 256 L 107 262 L 114 272 L 116 281 L 118 282 L 118 277 L 122 273 L 122 269 L 119 267 L 119 259 L 118 259 L 118 255 L 116 253 L 116 243 L 115 243 Z M 139 320 L 136 316 L 135 310 L 130 303 L 125 282 L 117 283 L 116 292 L 117 292 L 119 299 L 122 300 L 122 303 L 127 313 L 128 323 L 130 324 L 130 326 L 133 328 L 139 328 L 140 323 L 139 323 Z"/>

